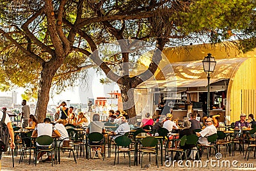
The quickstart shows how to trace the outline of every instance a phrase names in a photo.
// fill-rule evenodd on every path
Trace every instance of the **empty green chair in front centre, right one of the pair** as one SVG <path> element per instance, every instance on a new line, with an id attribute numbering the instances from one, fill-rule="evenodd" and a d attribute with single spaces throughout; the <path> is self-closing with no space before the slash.
<path id="1" fill-rule="evenodd" d="M 142 163 L 143 163 L 143 154 L 155 154 L 156 156 L 156 165 L 158 168 L 158 160 L 157 160 L 157 144 L 158 140 L 155 137 L 146 137 L 141 140 L 141 149 L 139 150 L 142 155 L 141 155 L 141 168 L 142 168 Z"/>

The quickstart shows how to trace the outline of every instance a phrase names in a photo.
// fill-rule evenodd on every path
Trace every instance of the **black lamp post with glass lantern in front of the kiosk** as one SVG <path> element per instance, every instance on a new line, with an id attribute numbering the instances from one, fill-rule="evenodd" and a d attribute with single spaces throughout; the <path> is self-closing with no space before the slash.
<path id="1" fill-rule="evenodd" d="M 207 117 L 209 117 L 210 114 L 210 73 L 214 71 L 216 61 L 214 57 L 212 57 L 212 54 L 208 54 L 208 56 L 204 57 L 203 66 L 204 71 L 207 73 L 207 80 L 208 80 L 208 87 L 207 87 Z"/>

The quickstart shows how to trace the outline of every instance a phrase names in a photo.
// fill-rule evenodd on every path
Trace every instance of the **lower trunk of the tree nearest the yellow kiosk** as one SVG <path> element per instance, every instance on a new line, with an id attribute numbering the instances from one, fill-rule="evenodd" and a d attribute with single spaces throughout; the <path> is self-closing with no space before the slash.
<path id="1" fill-rule="evenodd" d="M 129 124 L 136 124 L 136 110 L 134 105 L 134 89 L 131 88 L 131 85 L 119 85 L 121 95 L 122 95 L 122 102 L 123 102 L 123 109 L 129 115 Z"/>

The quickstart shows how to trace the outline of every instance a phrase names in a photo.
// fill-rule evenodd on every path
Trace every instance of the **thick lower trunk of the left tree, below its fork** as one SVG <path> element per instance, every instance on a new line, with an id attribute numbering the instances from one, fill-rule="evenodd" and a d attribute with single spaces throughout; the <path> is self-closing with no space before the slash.
<path id="1" fill-rule="evenodd" d="M 36 103 L 35 115 L 37 116 L 38 123 L 42 123 L 46 117 L 47 105 L 49 103 L 49 92 L 51 89 L 52 78 L 59 68 L 58 65 L 50 65 L 45 63 L 41 72 L 41 79 L 38 90 L 38 100 Z"/>

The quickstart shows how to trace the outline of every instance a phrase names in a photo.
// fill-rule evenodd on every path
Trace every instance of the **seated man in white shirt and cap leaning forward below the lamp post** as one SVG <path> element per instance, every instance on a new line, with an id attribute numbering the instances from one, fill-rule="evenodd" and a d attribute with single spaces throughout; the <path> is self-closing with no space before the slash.
<path id="1" fill-rule="evenodd" d="M 196 132 L 196 135 L 197 135 L 197 137 L 199 137 L 198 143 L 200 143 L 202 145 L 209 145 L 207 137 L 209 137 L 210 135 L 213 135 L 214 133 L 217 133 L 217 129 L 213 125 L 211 117 L 208 117 L 206 119 L 205 124 L 207 127 L 204 128 L 204 130 L 202 130 L 200 132 Z"/>

